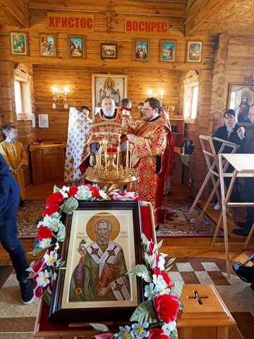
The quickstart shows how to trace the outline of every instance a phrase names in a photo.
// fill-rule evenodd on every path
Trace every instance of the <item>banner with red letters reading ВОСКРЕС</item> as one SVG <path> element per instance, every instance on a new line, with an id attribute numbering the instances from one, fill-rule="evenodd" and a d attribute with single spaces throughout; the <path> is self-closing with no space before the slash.
<path id="1" fill-rule="evenodd" d="M 125 32 L 139 35 L 168 35 L 169 20 L 147 18 L 125 18 Z"/>

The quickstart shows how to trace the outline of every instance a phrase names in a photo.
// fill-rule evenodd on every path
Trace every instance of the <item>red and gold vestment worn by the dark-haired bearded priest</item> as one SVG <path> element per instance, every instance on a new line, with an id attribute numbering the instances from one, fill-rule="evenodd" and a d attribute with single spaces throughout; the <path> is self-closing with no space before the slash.
<path id="1" fill-rule="evenodd" d="M 141 199 L 150 201 L 154 209 L 155 225 L 162 222 L 162 196 L 171 162 L 172 136 L 162 118 L 143 121 L 136 130 L 132 167 L 137 170 L 137 190 Z M 157 156 L 161 157 L 157 173 Z"/>

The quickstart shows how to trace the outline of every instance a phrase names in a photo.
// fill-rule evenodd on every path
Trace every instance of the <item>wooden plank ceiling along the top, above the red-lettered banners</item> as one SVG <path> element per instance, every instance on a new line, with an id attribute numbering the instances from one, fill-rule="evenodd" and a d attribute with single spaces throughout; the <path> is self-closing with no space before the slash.
<path id="1" fill-rule="evenodd" d="M 73 8 L 75 4 L 73 0 L 51 2 L 51 8 L 67 9 Z M 136 0 L 133 2 L 136 6 L 145 6 L 152 2 L 155 14 L 157 3 L 176 10 L 179 4 L 186 4 L 185 35 L 188 37 L 222 32 L 231 36 L 254 37 L 254 0 Z M 77 1 L 78 7 L 85 3 L 85 0 Z M 109 6 L 111 3 L 112 1 L 108 1 Z M 36 0 L 0 0 L 0 28 L 6 25 L 29 28 L 28 8 L 35 4 L 40 7 L 44 6 L 43 1 Z M 172 10 L 172 16 L 177 16 L 176 11 Z"/>

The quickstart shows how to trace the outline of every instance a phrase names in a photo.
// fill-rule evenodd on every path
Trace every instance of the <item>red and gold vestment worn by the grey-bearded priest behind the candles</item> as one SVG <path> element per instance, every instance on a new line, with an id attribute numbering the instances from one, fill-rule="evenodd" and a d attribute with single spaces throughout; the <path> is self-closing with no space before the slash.
<path id="1" fill-rule="evenodd" d="M 115 109 L 114 117 L 107 119 L 104 117 L 102 109 L 96 115 L 92 121 L 92 126 L 85 136 L 85 145 L 83 149 L 83 156 L 80 163 L 80 171 L 82 174 L 85 173 L 89 166 L 90 160 L 90 145 L 91 143 L 97 143 L 97 150 L 99 150 L 99 141 L 107 141 L 112 147 L 118 147 L 121 138 L 121 123 L 122 116 L 121 112 Z"/>

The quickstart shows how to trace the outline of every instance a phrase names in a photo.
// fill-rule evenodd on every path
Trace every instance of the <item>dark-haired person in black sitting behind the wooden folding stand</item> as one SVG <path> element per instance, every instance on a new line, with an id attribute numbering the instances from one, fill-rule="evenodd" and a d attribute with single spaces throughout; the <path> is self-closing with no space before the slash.
<path id="1" fill-rule="evenodd" d="M 223 114 L 225 124 L 222 127 L 219 127 L 217 131 L 214 134 L 214 137 L 230 141 L 231 143 L 236 143 L 236 145 L 241 145 L 241 139 L 238 137 L 238 129 L 240 126 L 237 124 L 237 115 L 234 109 L 226 109 L 226 112 Z M 222 143 L 219 143 L 218 141 L 214 141 L 214 148 L 216 153 L 218 154 L 219 149 L 221 148 Z M 232 148 L 231 147 L 225 147 L 223 150 L 223 153 L 231 153 Z M 241 152 L 241 149 L 237 150 L 237 153 Z M 219 172 L 219 169 L 217 169 Z M 230 173 L 233 172 L 234 167 L 229 165 L 228 169 L 226 169 L 226 172 Z M 231 178 L 224 178 L 224 182 L 226 184 L 226 187 L 229 187 Z M 219 193 L 220 188 L 218 187 Z M 221 210 L 221 206 L 219 204 L 219 201 L 214 206 L 214 210 Z"/>

